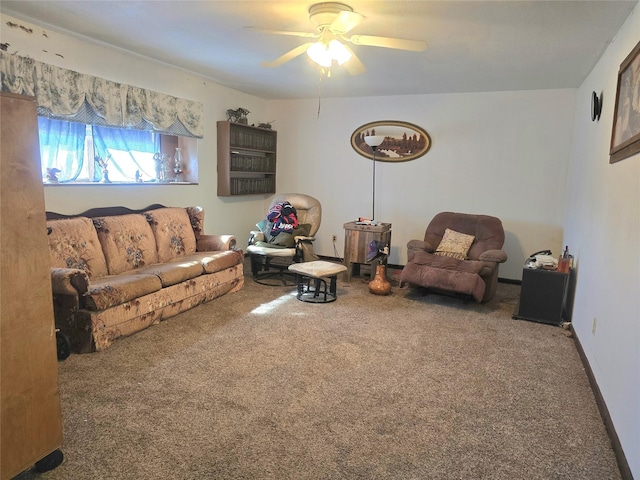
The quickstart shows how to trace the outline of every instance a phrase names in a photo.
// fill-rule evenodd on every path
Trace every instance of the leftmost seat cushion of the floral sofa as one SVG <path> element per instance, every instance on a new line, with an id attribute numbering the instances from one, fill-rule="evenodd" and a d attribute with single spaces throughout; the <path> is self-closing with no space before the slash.
<path id="1" fill-rule="evenodd" d="M 88 310 L 105 310 L 161 288 L 156 275 L 106 275 L 92 279 L 83 301 Z"/>

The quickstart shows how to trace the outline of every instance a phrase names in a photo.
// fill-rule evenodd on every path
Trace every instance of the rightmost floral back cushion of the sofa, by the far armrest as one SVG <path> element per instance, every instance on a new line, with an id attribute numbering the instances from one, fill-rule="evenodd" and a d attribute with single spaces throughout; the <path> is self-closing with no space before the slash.
<path id="1" fill-rule="evenodd" d="M 148 210 L 144 216 L 155 236 L 158 262 L 165 263 L 196 251 L 196 237 L 184 208 L 158 208 Z"/>

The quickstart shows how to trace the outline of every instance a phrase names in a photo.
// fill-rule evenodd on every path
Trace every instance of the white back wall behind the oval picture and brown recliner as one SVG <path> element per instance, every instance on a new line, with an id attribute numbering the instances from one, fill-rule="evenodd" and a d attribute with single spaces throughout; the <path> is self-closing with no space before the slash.
<path id="1" fill-rule="evenodd" d="M 342 254 L 343 224 L 372 210 L 372 162 L 351 148 L 351 134 L 377 120 L 419 125 L 433 141 L 426 155 L 376 163 L 376 217 L 393 224 L 390 263 L 406 263 L 407 242 L 422 239 L 436 213 L 483 213 L 504 223 L 500 276 L 520 279 L 530 253 L 562 248 L 574 103 L 574 90 L 321 99 L 318 118 L 318 99 L 272 101 L 278 189 L 321 200 L 316 251 L 333 256 L 335 234 Z"/>

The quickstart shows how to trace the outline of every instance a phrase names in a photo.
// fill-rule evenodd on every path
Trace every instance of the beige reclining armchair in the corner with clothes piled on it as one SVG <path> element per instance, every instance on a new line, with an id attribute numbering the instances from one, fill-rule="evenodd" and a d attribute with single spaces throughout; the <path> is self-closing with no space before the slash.
<path id="1" fill-rule="evenodd" d="M 287 284 L 287 277 L 295 280 L 295 274 L 288 271 L 289 265 L 295 262 L 313 261 L 318 257 L 313 251 L 315 234 L 322 220 L 322 205 L 310 195 L 302 193 L 283 193 L 273 197 L 269 204 L 272 212 L 278 204 L 288 203 L 295 209 L 297 226 L 291 233 L 270 235 L 271 225 L 266 219 L 260 221 L 259 230 L 249 233 L 247 253 L 251 259 L 251 273 L 258 283 L 272 285 L 275 277 L 278 283 Z M 285 212 L 283 212 L 283 215 Z"/>

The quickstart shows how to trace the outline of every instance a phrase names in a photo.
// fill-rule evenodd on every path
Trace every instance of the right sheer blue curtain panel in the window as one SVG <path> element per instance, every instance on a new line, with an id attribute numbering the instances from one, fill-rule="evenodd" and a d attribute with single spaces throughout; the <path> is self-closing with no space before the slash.
<path id="1" fill-rule="evenodd" d="M 130 181 L 135 180 L 132 172 L 136 171 L 146 178 L 155 177 L 155 171 L 146 171 L 145 166 L 136 160 L 132 152 L 155 153 L 160 151 L 160 135 L 146 130 L 124 130 L 94 125 L 93 146 L 95 155 L 103 160 L 108 156 L 108 149 L 129 152 L 126 160 L 120 159 L 118 161 L 112 157 L 109 159 L 108 170 L 110 172 L 118 171 Z M 93 180 L 100 181 L 101 179 L 102 169 L 96 165 Z"/>

